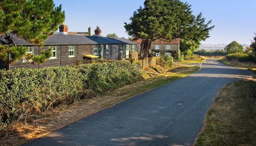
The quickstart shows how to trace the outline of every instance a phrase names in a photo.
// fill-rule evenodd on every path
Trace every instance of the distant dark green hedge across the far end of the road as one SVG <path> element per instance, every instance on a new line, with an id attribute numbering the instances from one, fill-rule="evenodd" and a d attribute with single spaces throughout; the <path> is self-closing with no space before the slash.
<path id="1" fill-rule="evenodd" d="M 226 50 L 204 50 L 204 49 L 198 49 L 196 50 L 195 54 L 202 55 L 202 56 L 225 56 L 227 55 Z"/>

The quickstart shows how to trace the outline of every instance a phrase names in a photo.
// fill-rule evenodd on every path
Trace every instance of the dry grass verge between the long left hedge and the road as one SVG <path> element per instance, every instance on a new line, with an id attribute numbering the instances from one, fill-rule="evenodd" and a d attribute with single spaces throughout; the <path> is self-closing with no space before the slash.
<path id="1" fill-rule="evenodd" d="M 42 119 L 34 121 L 34 124 L 15 125 L 15 131 L 9 133 L 9 135 L 4 138 L 0 138 L 0 143 L 3 146 L 22 145 L 54 130 L 58 130 L 63 126 L 71 124 L 88 115 L 111 107 L 124 101 L 125 99 L 165 85 L 170 81 L 185 77 L 198 71 L 199 69 L 200 67 L 198 66 L 179 64 L 173 65 L 171 69 L 162 68 L 160 66 L 152 67 L 150 68 L 152 72 L 158 70 L 161 74 L 164 73 L 165 76 L 154 76 L 138 81 L 137 83 L 125 85 L 124 87 L 105 93 L 97 98 L 88 98 L 69 106 L 60 106 L 53 112 L 45 113 Z"/>

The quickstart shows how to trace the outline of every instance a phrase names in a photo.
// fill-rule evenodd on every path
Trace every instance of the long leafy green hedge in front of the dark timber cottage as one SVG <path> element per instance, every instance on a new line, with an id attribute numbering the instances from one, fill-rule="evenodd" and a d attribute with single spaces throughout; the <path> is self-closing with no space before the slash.
<path id="1" fill-rule="evenodd" d="M 141 74 L 140 66 L 127 61 L 0 70 L 0 131 L 58 105 L 130 84 Z"/>

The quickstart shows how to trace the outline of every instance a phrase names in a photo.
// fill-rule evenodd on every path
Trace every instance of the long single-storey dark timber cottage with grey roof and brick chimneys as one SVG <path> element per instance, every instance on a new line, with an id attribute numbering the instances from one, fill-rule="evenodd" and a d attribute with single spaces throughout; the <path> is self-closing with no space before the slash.
<path id="1" fill-rule="evenodd" d="M 54 33 L 44 41 L 43 47 L 30 44 L 24 39 L 12 36 L 15 45 L 27 47 L 27 53 L 39 55 L 42 50 L 52 47 L 52 56 L 44 64 L 31 64 L 25 59 L 20 59 L 13 64 L 4 64 L 0 59 L 0 69 L 12 70 L 14 68 L 43 68 L 49 66 L 76 65 L 77 59 L 83 59 L 84 55 L 97 55 L 101 59 L 129 58 L 129 53 L 137 50 L 137 43 L 125 38 L 102 37 L 101 30 L 97 26 L 95 35 L 81 35 L 81 33 L 68 33 L 68 26 L 63 23 L 59 26 L 59 33 Z M 4 37 L 0 37 L 1 43 L 7 43 Z"/>

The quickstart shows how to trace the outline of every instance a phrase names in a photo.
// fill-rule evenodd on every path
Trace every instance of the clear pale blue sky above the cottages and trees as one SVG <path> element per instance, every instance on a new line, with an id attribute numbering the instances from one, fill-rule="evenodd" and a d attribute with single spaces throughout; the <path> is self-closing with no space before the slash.
<path id="1" fill-rule="evenodd" d="M 255 0 L 182 0 L 191 4 L 193 14 L 203 13 L 207 21 L 212 20 L 215 28 L 211 37 L 203 44 L 228 44 L 233 40 L 250 44 L 256 33 Z M 93 31 L 99 25 L 102 36 L 115 33 L 128 38 L 124 22 L 130 22 L 133 12 L 143 6 L 144 0 L 54 0 L 62 4 L 65 22 L 72 32 Z"/>

